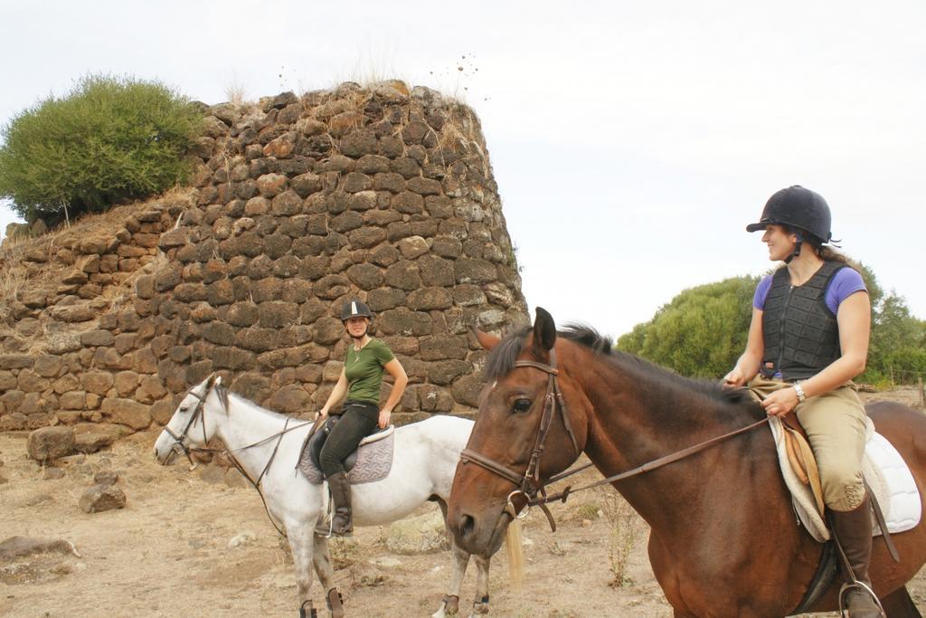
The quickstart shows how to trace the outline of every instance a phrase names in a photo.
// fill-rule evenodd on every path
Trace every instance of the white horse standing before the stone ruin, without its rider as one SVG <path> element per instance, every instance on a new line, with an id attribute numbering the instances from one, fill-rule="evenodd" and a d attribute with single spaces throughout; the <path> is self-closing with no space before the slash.
<path id="1" fill-rule="evenodd" d="M 212 375 L 195 385 L 174 411 L 170 422 L 155 442 L 155 457 L 169 463 L 178 452 L 203 448 L 218 438 L 241 469 L 257 483 L 269 517 L 285 532 L 293 549 L 296 587 L 301 616 L 316 616 L 310 588 L 312 565 L 326 591 L 335 618 L 344 615 L 334 587 L 334 573 L 328 539 L 314 534 L 319 515 L 328 507 L 328 492 L 301 473 L 294 473 L 312 423 L 292 423 L 282 414 L 265 410 L 220 385 Z M 444 512 L 450 496 L 460 451 L 469 440 L 472 422 L 451 416 L 436 416 L 395 430 L 394 460 L 389 475 L 373 483 L 351 487 L 354 523 L 382 525 L 406 517 L 428 500 Z M 457 613 L 463 575 L 469 553 L 457 547 L 448 535 L 453 555 L 449 592 L 432 615 L 442 618 Z M 476 597 L 470 616 L 489 611 L 490 556 L 475 556 L 478 568 Z"/>

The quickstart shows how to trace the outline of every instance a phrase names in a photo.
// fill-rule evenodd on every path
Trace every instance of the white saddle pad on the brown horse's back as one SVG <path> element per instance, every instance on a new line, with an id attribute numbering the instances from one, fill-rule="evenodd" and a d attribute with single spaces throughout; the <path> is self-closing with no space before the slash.
<path id="1" fill-rule="evenodd" d="M 907 468 L 907 463 L 883 435 L 874 430 L 874 423 L 867 419 L 867 441 L 865 443 L 865 459 L 862 460 L 862 474 L 871 488 L 874 497 L 878 499 L 884 515 L 884 523 L 891 534 L 904 532 L 920 523 L 921 504 L 920 490 L 913 480 L 913 474 Z M 830 539 L 830 530 L 820 513 L 817 512 L 813 494 L 810 487 L 804 485 L 791 469 L 787 453 L 784 450 L 784 437 L 782 435 L 782 422 L 771 418 L 769 422 L 771 434 L 775 438 L 778 448 L 778 460 L 782 466 L 784 483 L 791 490 L 795 512 L 800 523 L 804 524 L 810 536 L 820 543 Z M 872 514 L 872 531 L 874 536 L 881 533 L 881 528 L 874 521 Z"/>

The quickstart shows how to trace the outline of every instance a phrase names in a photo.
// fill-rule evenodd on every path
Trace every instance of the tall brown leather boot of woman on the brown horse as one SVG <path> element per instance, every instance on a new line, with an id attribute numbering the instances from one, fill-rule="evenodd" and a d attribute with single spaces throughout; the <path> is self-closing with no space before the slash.
<path id="1" fill-rule="evenodd" d="M 868 495 L 852 511 L 830 512 L 836 540 L 852 568 L 852 573 L 845 573 L 845 566 L 840 564 L 845 582 L 853 584 L 858 581 L 871 588 L 868 574 L 871 561 L 871 511 Z M 854 586 L 845 593 L 845 602 L 850 618 L 884 618 L 873 593 L 860 586 Z"/>

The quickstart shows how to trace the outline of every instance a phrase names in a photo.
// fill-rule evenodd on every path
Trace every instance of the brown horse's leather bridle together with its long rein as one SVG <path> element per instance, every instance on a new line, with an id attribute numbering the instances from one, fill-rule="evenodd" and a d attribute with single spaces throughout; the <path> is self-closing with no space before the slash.
<path id="1" fill-rule="evenodd" d="M 660 457 L 657 460 L 647 461 L 643 465 L 632 468 L 626 472 L 614 474 L 612 476 L 608 476 L 605 479 L 590 483 L 589 485 L 576 487 L 575 489 L 573 489 L 572 486 L 567 486 L 560 492 L 547 495 L 545 489 L 547 485 L 556 483 L 557 481 L 567 478 L 573 474 L 580 473 L 582 470 L 592 466 L 592 463 L 586 463 L 576 468 L 567 470 L 566 472 L 555 474 L 546 480 L 540 478 L 540 458 L 544 454 L 544 442 L 546 441 L 546 436 L 549 434 L 550 426 L 553 424 L 553 418 L 557 415 L 557 411 L 562 417 L 563 425 L 566 427 L 566 432 L 569 434 L 569 437 L 572 440 L 572 448 L 573 453 L 575 454 L 575 459 L 579 458 L 579 456 L 582 454 L 582 450 L 580 450 L 579 443 L 576 440 L 576 436 L 572 431 L 571 425 L 569 424 L 569 414 L 566 410 L 566 401 L 563 398 L 562 391 L 559 389 L 559 385 L 557 384 L 557 376 L 559 375 L 559 371 L 557 370 L 556 353 L 553 350 L 550 350 L 549 365 L 545 365 L 541 362 L 535 362 L 533 360 L 518 360 L 515 362 L 515 367 L 531 367 L 533 369 L 538 369 L 542 372 L 545 372 L 548 376 L 546 383 L 546 395 L 544 396 L 544 412 L 541 416 L 540 429 L 537 431 L 537 437 L 534 440 L 533 449 L 531 451 L 531 458 L 528 460 L 527 468 L 524 470 L 524 473 L 517 473 L 511 468 L 508 468 L 506 465 L 486 457 L 470 448 L 464 448 L 460 452 L 460 460 L 464 463 L 472 462 L 476 465 L 482 466 L 482 468 L 485 468 L 489 472 L 501 476 L 517 487 L 517 489 L 508 494 L 507 504 L 505 506 L 505 512 L 507 512 L 512 519 L 523 519 L 527 516 L 528 512 L 531 511 L 532 506 L 540 507 L 540 509 L 544 511 L 544 515 L 546 516 L 547 521 L 550 523 L 550 528 L 554 532 L 557 530 L 557 524 L 553 520 L 553 515 L 550 513 L 546 506 L 548 502 L 553 502 L 556 500 L 566 502 L 566 499 L 569 498 L 570 494 L 574 494 L 578 491 L 584 491 L 586 489 L 592 489 L 593 487 L 615 483 L 617 481 L 631 478 L 632 476 L 637 476 L 638 474 L 656 470 L 657 468 L 668 465 L 673 461 L 678 461 L 686 457 L 690 457 L 695 453 L 712 447 L 715 444 L 732 438 L 735 435 L 745 434 L 746 432 L 757 428 L 759 425 L 769 423 L 769 417 L 765 417 L 761 421 L 751 423 L 745 427 L 733 430 L 727 434 L 712 437 L 708 440 L 705 440 L 704 442 L 700 442 L 688 448 L 682 448 L 682 450 L 670 453 L 669 455 Z M 517 495 L 520 495 L 525 499 L 525 504 L 521 511 L 517 511 L 513 502 L 511 501 L 511 498 Z"/>

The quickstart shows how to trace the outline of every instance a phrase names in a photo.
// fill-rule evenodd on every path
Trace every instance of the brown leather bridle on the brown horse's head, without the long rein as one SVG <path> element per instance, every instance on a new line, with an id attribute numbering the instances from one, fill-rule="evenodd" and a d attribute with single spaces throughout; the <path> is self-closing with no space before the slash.
<path id="1" fill-rule="evenodd" d="M 550 479 L 547 479 L 546 481 L 543 481 L 540 478 L 540 460 L 544 455 L 546 436 L 550 433 L 550 427 L 553 425 L 553 419 L 557 416 L 557 411 L 563 420 L 563 425 L 566 427 L 566 433 L 569 434 L 569 438 L 572 440 L 572 448 L 575 459 L 578 459 L 578 457 L 582 454 L 582 449 L 579 448 L 579 442 L 576 440 L 575 433 L 572 431 L 572 425 L 569 424 L 569 413 L 566 410 L 566 400 L 563 398 L 562 391 L 560 391 L 559 384 L 557 383 L 557 375 L 559 375 L 559 371 L 557 370 L 556 352 L 554 350 L 550 350 L 550 364 L 548 365 L 542 362 L 536 362 L 534 360 L 517 360 L 515 361 L 514 366 L 516 368 L 530 367 L 532 369 L 545 372 L 547 375 L 546 394 L 544 395 L 544 411 L 540 417 L 540 428 L 537 431 L 537 437 L 534 440 L 533 448 L 531 450 L 531 457 L 528 460 L 527 467 L 524 469 L 524 473 L 517 473 L 511 468 L 508 468 L 505 464 L 499 463 L 498 461 L 486 457 L 482 455 L 482 453 L 479 453 L 470 448 L 464 448 L 460 452 L 460 461 L 463 461 L 464 463 L 471 461 L 476 465 L 482 466 L 482 468 L 485 468 L 489 472 L 501 476 L 517 487 L 517 489 L 508 494 L 505 507 L 505 511 L 508 513 L 508 515 L 511 516 L 512 519 L 523 519 L 527 516 L 528 512 L 531 510 L 531 507 L 533 505 L 537 505 L 541 508 L 541 510 L 544 511 L 544 514 L 550 522 L 550 527 L 553 528 L 553 530 L 556 530 L 557 526 L 553 521 L 553 515 L 550 514 L 550 511 L 546 508 L 545 505 L 547 500 L 545 499 L 546 492 L 544 490 L 544 486 L 549 483 L 554 483 L 559 479 L 564 478 L 566 475 L 579 472 L 577 469 L 570 471 L 569 474 L 558 474 L 551 477 Z M 582 469 L 587 468 L 588 465 L 582 466 Z M 542 498 L 537 498 L 537 494 L 540 494 Z M 515 509 L 514 503 L 511 499 L 518 495 L 525 498 L 525 504 L 521 511 L 517 511 Z"/>

